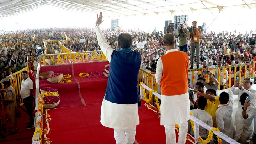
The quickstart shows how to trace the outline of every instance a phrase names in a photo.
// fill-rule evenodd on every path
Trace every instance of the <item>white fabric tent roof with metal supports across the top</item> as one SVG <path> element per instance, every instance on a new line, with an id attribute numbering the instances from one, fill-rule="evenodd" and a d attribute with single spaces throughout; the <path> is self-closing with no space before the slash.
<path id="1" fill-rule="evenodd" d="M 175 11 L 219 9 L 230 6 L 255 6 L 256 0 L 1 0 L 0 18 L 12 17 L 38 7 L 52 5 L 67 11 L 104 12 L 106 16 L 136 16 Z"/>

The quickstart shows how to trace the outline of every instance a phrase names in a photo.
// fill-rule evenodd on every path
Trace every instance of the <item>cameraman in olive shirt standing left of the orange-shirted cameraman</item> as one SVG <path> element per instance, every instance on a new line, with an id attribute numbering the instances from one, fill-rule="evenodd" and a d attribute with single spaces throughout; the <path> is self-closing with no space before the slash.
<path id="1" fill-rule="evenodd" d="M 184 51 L 187 53 L 187 49 L 188 49 L 188 45 L 187 45 L 187 33 L 188 30 L 184 28 L 183 24 L 180 24 L 180 29 L 179 31 L 179 37 L 180 37 L 180 44 L 179 44 L 179 48 L 180 51 Z"/>

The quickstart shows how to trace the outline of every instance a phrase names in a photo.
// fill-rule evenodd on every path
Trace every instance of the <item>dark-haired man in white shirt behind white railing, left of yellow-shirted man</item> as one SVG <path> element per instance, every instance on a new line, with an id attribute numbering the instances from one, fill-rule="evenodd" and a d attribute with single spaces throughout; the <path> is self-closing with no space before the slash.
<path id="1" fill-rule="evenodd" d="M 193 114 L 194 117 L 208 124 L 210 127 L 213 127 L 212 116 L 205 111 L 207 99 L 204 96 L 201 96 L 198 98 L 197 104 L 198 104 L 198 108 L 195 110 L 190 110 L 190 112 Z M 188 120 L 188 133 L 194 136 L 194 132 L 191 127 L 190 120 Z M 207 138 L 207 135 L 208 135 L 207 129 L 203 128 L 202 126 L 199 126 L 199 133 L 203 140 Z"/>

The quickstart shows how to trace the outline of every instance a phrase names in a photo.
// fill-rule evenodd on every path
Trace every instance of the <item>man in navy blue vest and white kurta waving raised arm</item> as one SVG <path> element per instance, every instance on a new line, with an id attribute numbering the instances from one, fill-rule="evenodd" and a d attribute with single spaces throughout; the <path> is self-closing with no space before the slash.
<path id="1" fill-rule="evenodd" d="M 114 129 L 116 143 L 134 143 L 138 115 L 138 74 L 142 56 L 132 51 L 132 37 L 128 33 L 118 36 L 118 51 L 104 38 L 100 27 L 102 13 L 97 15 L 95 31 L 98 44 L 110 62 L 107 90 L 101 106 L 101 123 Z"/>

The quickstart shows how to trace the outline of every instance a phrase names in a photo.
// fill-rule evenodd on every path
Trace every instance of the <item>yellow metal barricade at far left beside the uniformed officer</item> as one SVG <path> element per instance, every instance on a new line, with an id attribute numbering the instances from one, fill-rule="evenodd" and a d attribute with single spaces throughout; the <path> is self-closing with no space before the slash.
<path id="1" fill-rule="evenodd" d="M 18 72 L 15 72 L 12 75 L 10 75 L 10 76 L 8 76 L 5 79 L 2 79 L 0 81 L 1 89 L 4 89 L 4 85 L 2 83 L 3 81 L 8 80 L 8 81 L 11 82 L 11 86 L 14 87 L 14 89 L 15 89 L 16 100 L 19 98 L 19 95 L 20 95 L 20 87 L 21 87 L 21 81 L 22 81 L 22 78 L 21 78 L 22 71 L 29 72 L 28 67 L 25 67 L 22 70 L 20 70 Z M 4 95 L 5 95 L 5 92 L 1 93 L 1 98 L 4 98 Z M 20 99 L 20 101 L 17 101 L 17 106 L 22 106 L 22 105 L 23 105 L 23 100 L 22 99 Z M 0 125 L 0 127 L 3 124 L 5 124 L 6 121 L 7 121 L 7 118 L 5 117 L 6 114 L 7 114 L 7 106 L 5 106 L 4 103 L 1 102 L 1 109 L 0 109 L 1 125 Z"/>

